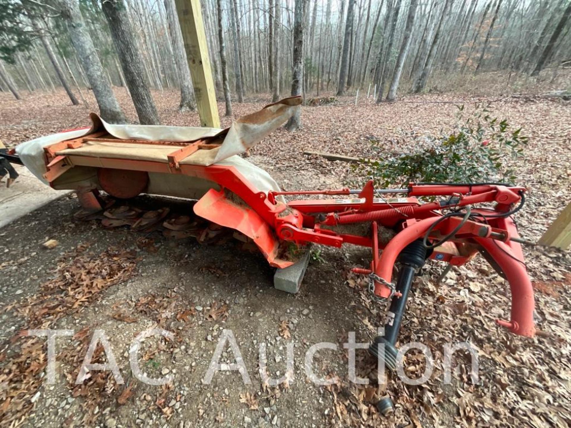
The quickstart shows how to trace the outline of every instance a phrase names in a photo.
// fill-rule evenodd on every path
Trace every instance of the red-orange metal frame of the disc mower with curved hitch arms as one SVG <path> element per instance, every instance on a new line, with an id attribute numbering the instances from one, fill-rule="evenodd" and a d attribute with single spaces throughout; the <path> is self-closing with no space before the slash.
<path id="1" fill-rule="evenodd" d="M 429 259 L 451 265 L 463 265 L 481 252 L 510 285 L 510 320 L 497 320 L 497 324 L 521 336 L 534 335 L 533 289 L 520 245 L 525 241 L 518 236 L 512 219 L 512 214 L 525 201 L 523 187 L 410 183 L 402 189 L 375 189 L 372 181 L 369 181 L 360 190 L 345 188 L 265 193 L 256 189 L 235 167 L 180 163 L 198 148 L 216 147 L 208 140 L 189 143 L 191 147 L 186 150 L 178 148 L 172 153 L 173 156 L 168 157 L 168 162 L 94 158 L 74 155 L 73 151 L 58 154 L 64 148 L 81 147 L 89 137 L 87 135 L 45 148 L 45 178 L 51 185 L 70 168 L 79 166 L 101 168 L 102 172 L 110 168 L 120 169 L 127 175 L 133 171 L 140 176 L 140 171 L 145 171 L 210 180 L 219 189 L 210 189 L 198 200 L 194 205 L 196 215 L 244 233 L 254 240 L 268 262 L 275 267 L 285 268 L 292 264 L 292 261 L 280 256 L 284 252 L 283 244 L 287 243 L 315 243 L 337 248 L 343 244 L 353 244 L 371 248 L 371 265 L 368 268 L 354 268 L 353 272 L 367 275 L 373 297 L 382 301 L 403 299 L 403 293 L 392 282 L 393 267 L 399 255 L 413 243 L 422 241 Z M 94 135 L 93 138 L 101 138 L 101 135 Z M 139 140 L 115 141 L 140 143 Z M 168 145 L 168 142 L 144 143 Z M 182 145 L 180 142 L 176 144 Z M 120 186 L 121 183 L 116 185 Z M 106 187 L 99 185 L 98 188 L 79 189 L 79 200 L 89 207 L 94 203 L 93 192 L 98 189 L 112 196 L 114 194 L 112 183 L 110 186 L 107 182 Z M 284 203 L 283 197 L 303 195 L 340 198 L 294 199 Z M 385 199 L 383 195 L 400 196 Z M 433 201 L 421 203 L 419 197 L 431 197 Z M 493 208 L 474 207 L 477 204 L 495 205 Z M 361 229 L 367 233 L 340 231 L 349 224 L 364 224 Z M 379 238 L 380 228 L 391 229 L 395 235 L 385 242 Z M 412 277 L 409 282 L 412 282 Z"/>

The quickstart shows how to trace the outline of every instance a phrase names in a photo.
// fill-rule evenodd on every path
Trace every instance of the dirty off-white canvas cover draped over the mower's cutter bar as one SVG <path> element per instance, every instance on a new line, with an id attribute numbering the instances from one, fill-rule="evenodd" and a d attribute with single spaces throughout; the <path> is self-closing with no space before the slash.
<path id="1" fill-rule="evenodd" d="M 90 128 L 82 128 L 79 130 L 59 132 L 30 140 L 21 143 L 16 147 L 16 153 L 22 159 L 23 164 L 35 175 L 38 179 L 48 184 L 43 174 L 46 172 L 45 155 L 43 148 L 51 144 L 59 143 L 64 140 L 80 138 L 81 136 L 91 134 L 98 130 L 105 130 L 115 138 L 119 139 L 138 139 L 138 140 L 155 140 L 155 141 L 169 141 L 169 142 L 189 142 L 198 139 L 210 138 L 224 138 L 222 145 L 213 150 L 199 150 L 195 154 L 181 161 L 182 164 L 196 164 L 196 165 L 229 165 L 233 166 L 242 175 L 244 175 L 251 184 L 253 184 L 259 191 L 268 192 L 270 190 L 279 191 L 279 185 L 274 179 L 262 168 L 248 162 L 246 159 L 236 156 L 248 148 L 253 147 L 256 143 L 262 140 L 265 136 L 270 134 L 282 123 L 286 122 L 295 108 L 299 108 L 301 103 L 300 97 L 286 98 L 278 103 L 270 104 L 262 110 L 254 114 L 243 116 L 236 120 L 227 130 L 220 130 L 218 128 L 200 128 L 200 127 L 172 127 L 172 126 L 151 126 L 151 125 L 132 125 L 132 124 L 110 124 L 105 122 L 96 114 L 91 114 L 90 118 L 93 125 Z M 141 146 L 141 147 L 136 147 Z M 175 151 L 176 147 L 172 146 L 152 146 L 149 144 L 121 144 L 120 142 L 112 143 L 91 143 L 87 142 L 82 147 L 76 149 L 67 149 L 58 152 L 62 155 L 82 155 L 91 157 L 112 157 L 119 159 L 141 159 L 153 161 L 167 161 L 166 154 Z M 77 168 L 71 168 L 69 172 Z M 81 181 L 85 185 L 85 181 L 95 180 L 93 173 L 79 174 L 78 179 L 66 179 L 66 172 L 58 178 L 58 188 L 71 188 L 77 187 Z M 70 174 L 71 175 L 71 174 Z M 182 189 L 175 189 L 174 183 L 161 183 L 160 181 L 172 180 L 171 174 L 150 174 L 150 192 L 156 189 L 156 193 L 162 193 L 160 189 L 171 189 L 168 194 L 178 193 L 172 196 L 186 196 L 186 197 L 199 197 L 200 193 L 204 191 L 204 180 L 196 180 L 196 191 L 194 195 L 188 192 L 183 192 Z M 55 186 L 54 186 L 55 187 Z M 185 185 L 187 190 L 188 183 Z M 210 187 L 214 187 L 211 185 Z M 183 193 L 183 194 L 180 194 Z M 192 192 L 190 192 L 192 193 Z"/>

